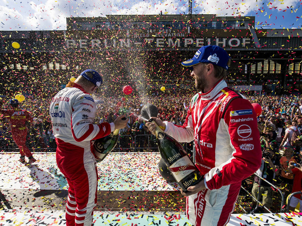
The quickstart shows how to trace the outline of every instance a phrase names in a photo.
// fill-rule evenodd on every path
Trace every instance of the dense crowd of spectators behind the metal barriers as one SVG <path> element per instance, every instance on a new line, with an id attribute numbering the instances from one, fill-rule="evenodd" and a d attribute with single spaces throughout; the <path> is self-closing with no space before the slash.
<path id="1" fill-rule="evenodd" d="M 271 184 L 281 189 L 284 195 L 301 191 L 302 166 L 302 98 L 300 95 L 261 95 L 246 96 L 251 103 L 259 103 L 262 113 L 257 117 L 260 143 L 262 147 L 262 164 L 256 172 L 265 178 L 259 186 L 259 178 L 253 178 L 251 193 L 258 197 L 261 191 L 262 204 L 271 209 L 275 199 L 276 190 Z M 145 104 L 154 104 L 158 108 L 157 117 L 182 125 L 187 115 L 187 108 L 191 100 L 188 95 L 160 95 L 148 97 L 95 97 L 97 115 L 95 123 L 113 122 L 122 114 L 129 115 L 128 126 L 120 131 L 120 140 L 115 151 L 157 151 L 154 137 L 150 135 L 146 121 L 141 119 L 141 109 Z M 27 135 L 27 146 L 32 151 L 55 151 L 56 143 L 52 134 L 49 117 L 50 100 L 43 102 L 28 100 L 21 103 L 21 108 L 31 112 L 33 122 Z M 6 104 L 6 107 L 9 107 Z M 1 119 L 0 147 L 2 151 L 17 151 L 10 134 L 9 123 L 4 117 Z M 301 139 L 301 141 L 300 141 Z M 192 143 L 186 144 L 188 150 L 193 149 Z M 302 149 L 301 149 L 302 150 Z M 296 163 L 295 166 L 291 166 Z M 286 196 L 285 196 L 286 197 Z M 291 210 L 294 210 L 300 202 L 302 212 L 301 195 L 295 195 L 291 200 Z M 253 200 L 253 204 L 256 202 Z M 265 210 L 263 210 L 265 211 Z"/>

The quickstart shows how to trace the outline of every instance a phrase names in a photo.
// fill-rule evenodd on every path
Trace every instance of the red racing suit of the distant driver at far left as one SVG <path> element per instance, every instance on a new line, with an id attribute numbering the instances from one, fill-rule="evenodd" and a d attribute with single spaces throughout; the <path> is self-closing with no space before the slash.
<path id="1" fill-rule="evenodd" d="M 26 123 L 32 122 L 30 113 L 28 111 L 21 110 L 20 108 L 15 108 L 15 110 L 0 109 L 0 113 L 3 114 L 10 122 L 11 136 L 19 147 L 20 155 L 31 157 L 32 153 L 25 144 L 27 136 Z"/>

